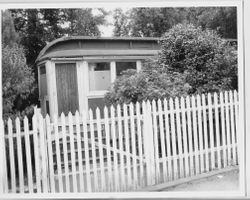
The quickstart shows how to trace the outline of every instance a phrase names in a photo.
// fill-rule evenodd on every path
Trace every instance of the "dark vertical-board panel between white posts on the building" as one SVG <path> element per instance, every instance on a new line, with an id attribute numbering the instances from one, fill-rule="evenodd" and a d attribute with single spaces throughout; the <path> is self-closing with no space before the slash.
<path id="1" fill-rule="evenodd" d="M 58 114 L 79 110 L 76 63 L 55 63 Z"/>

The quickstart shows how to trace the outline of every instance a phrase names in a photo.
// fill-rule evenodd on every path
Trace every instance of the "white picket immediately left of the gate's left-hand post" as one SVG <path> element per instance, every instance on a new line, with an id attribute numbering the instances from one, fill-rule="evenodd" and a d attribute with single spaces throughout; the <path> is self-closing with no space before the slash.
<path id="1" fill-rule="evenodd" d="M 38 124 L 36 115 L 32 117 L 32 125 L 33 125 L 33 139 L 34 139 L 34 153 L 35 153 L 36 189 L 37 193 L 41 193 L 41 174 L 40 174 L 41 166 L 40 166 L 39 141 L 37 135 Z"/>

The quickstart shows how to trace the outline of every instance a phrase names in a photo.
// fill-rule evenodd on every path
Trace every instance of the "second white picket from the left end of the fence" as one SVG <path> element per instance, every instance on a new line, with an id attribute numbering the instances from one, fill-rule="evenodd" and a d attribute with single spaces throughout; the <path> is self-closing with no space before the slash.
<path id="1" fill-rule="evenodd" d="M 18 156 L 18 174 L 20 192 L 24 193 L 24 174 L 23 174 L 23 155 L 20 119 L 16 118 L 16 138 L 17 138 L 17 156 Z"/>

